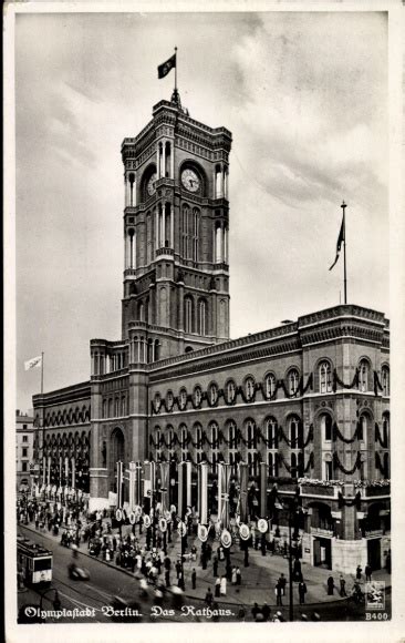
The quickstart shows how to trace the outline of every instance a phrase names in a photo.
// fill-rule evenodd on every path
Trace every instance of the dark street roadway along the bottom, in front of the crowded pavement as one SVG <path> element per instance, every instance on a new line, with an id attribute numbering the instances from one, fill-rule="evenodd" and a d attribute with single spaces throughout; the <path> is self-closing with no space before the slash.
<path id="1" fill-rule="evenodd" d="M 46 622 L 111 622 L 111 605 L 115 596 L 120 596 L 128 602 L 137 602 L 139 604 L 139 612 L 142 614 L 142 622 L 199 622 L 211 621 L 207 615 L 207 605 L 201 598 L 190 598 L 186 592 L 184 599 L 183 611 L 175 609 L 172 603 L 172 596 L 167 595 L 164 599 L 162 606 L 154 604 L 153 595 L 145 599 L 139 593 L 139 581 L 132 576 L 132 574 L 123 573 L 118 568 L 104 564 L 103 562 L 79 552 L 77 564 L 85 568 L 90 572 L 89 581 L 74 581 L 69 578 L 68 565 L 72 562 L 72 551 L 60 545 L 56 541 L 50 539 L 40 532 L 33 532 L 23 525 L 19 525 L 19 531 L 23 534 L 43 544 L 53 552 L 53 581 L 52 588 L 58 590 L 61 601 L 61 610 L 94 610 L 92 615 L 79 615 L 75 618 L 72 614 L 62 615 L 61 618 L 49 615 Z M 42 592 L 43 593 L 43 592 Z M 43 610 L 54 610 L 52 601 L 54 592 L 48 591 L 43 599 Z M 24 592 L 19 592 L 19 608 L 24 604 L 39 604 L 40 593 L 28 589 Z M 228 602 L 218 601 L 218 606 L 221 614 L 219 621 L 252 621 L 251 608 L 253 601 Z M 271 605 L 271 602 L 269 602 Z M 271 605 L 271 615 L 276 611 L 282 614 L 282 619 L 288 621 L 288 605 L 276 608 Z M 329 601 L 311 603 L 305 605 L 294 605 L 294 618 L 301 620 L 301 614 L 305 614 L 311 621 L 314 612 L 316 612 L 321 621 L 364 621 L 366 619 L 364 604 L 356 604 L 352 601 Z M 386 616 L 391 615 L 391 589 L 386 591 Z"/>

